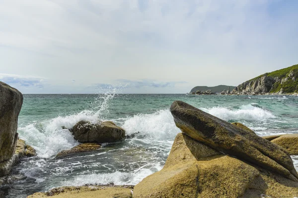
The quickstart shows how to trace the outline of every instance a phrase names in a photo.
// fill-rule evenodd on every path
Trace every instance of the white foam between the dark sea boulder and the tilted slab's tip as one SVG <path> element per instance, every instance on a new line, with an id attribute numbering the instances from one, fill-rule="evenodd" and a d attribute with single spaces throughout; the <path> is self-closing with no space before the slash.
<path id="1" fill-rule="evenodd" d="M 175 126 L 169 109 L 157 110 L 151 114 L 137 114 L 127 118 L 122 127 L 128 135 L 140 132 L 156 140 L 173 139 L 180 130 Z"/>

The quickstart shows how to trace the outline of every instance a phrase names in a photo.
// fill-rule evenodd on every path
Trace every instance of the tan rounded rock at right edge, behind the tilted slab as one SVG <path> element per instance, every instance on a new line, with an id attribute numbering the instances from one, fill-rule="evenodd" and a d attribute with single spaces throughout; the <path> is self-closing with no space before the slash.
<path id="1" fill-rule="evenodd" d="M 282 135 L 271 142 L 286 149 L 290 155 L 298 155 L 298 134 Z"/>

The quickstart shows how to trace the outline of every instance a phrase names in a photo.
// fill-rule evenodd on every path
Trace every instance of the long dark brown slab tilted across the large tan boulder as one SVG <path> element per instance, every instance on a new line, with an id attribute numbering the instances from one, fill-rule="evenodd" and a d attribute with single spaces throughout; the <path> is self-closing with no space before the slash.
<path id="1" fill-rule="evenodd" d="M 193 139 L 298 181 L 293 161 L 283 148 L 182 101 L 174 101 L 170 111 L 176 126 Z"/>

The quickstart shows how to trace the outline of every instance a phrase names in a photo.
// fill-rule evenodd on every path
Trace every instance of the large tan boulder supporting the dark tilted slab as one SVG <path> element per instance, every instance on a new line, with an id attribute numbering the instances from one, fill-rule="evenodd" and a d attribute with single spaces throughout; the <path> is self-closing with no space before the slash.
<path id="1" fill-rule="evenodd" d="M 224 155 L 178 134 L 161 171 L 134 188 L 133 198 L 293 198 L 298 182 Z"/>

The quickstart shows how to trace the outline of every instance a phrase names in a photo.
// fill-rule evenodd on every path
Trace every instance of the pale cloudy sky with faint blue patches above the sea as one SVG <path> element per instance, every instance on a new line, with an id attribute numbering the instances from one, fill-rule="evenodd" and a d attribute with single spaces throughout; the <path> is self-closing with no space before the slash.
<path id="1" fill-rule="evenodd" d="M 23 94 L 188 93 L 298 64 L 298 0 L 0 0 Z"/>

